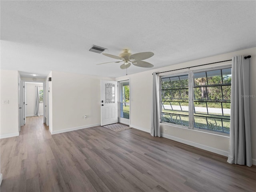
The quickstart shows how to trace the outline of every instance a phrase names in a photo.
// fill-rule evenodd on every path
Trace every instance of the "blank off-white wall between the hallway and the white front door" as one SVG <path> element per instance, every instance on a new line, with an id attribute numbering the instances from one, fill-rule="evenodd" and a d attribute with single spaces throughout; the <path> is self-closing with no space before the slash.
<path id="1" fill-rule="evenodd" d="M 52 71 L 52 134 L 100 125 L 101 79 Z"/>

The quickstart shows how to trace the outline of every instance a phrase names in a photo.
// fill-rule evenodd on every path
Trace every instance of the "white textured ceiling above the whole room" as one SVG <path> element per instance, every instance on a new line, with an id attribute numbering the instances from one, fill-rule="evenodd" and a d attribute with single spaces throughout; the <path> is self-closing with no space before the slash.
<path id="1" fill-rule="evenodd" d="M 119 55 L 154 52 L 160 68 L 256 46 L 256 1 L 3 1 L 1 69 L 118 77 Z M 150 70 L 131 66 L 128 74 Z"/>

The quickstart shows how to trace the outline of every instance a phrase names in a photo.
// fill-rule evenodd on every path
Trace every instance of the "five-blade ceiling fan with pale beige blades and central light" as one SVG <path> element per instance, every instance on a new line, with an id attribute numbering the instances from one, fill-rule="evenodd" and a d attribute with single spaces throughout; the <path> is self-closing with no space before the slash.
<path id="1" fill-rule="evenodd" d="M 146 68 L 154 67 L 154 65 L 152 65 L 151 63 L 142 61 L 152 57 L 154 55 L 154 53 L 152 52 L 141 52 L 141 53 L 131 54 L 130 50 L 124 49 L 119 56 L 115 56 L 107 53 L 102 53 L 102 54 L 114 59 L 122 60 L 122 61 L 112 61 L 112 62 L 100 63 L 97 65 L 124 62 L 124 64 L 120 66 L 121 69 L 127 69 L 128 67 L 131 66 L 131 63 L 138 67 L 146 67 Z"/>

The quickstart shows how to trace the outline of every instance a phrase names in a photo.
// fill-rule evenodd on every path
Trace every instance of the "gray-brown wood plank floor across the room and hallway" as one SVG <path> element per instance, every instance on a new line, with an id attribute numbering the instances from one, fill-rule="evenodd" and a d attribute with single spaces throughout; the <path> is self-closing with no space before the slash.
<path id="1" fill-rule="evenodd" d="M 128 129 L 51 135 L 42 116 L 1 139 L 1 192 L 255 192 L 256 166 Z"/>

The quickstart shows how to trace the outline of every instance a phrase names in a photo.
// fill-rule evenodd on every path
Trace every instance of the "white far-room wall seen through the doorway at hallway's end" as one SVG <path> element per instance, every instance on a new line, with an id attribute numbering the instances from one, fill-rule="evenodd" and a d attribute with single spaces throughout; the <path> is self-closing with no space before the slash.
<path id="1" fill-rule="evenodd" d="M 35 116 L 35 108 L 36 108 L 36 86 L 40 86 L 40 89 L 43 89 L 43 83 L 35 83 L 35 82 L 25 82 L 26 89 L 26 117 Z M 44 113 L 44 104 L 39 104 L 39 114 L 43 115 Z"/>

